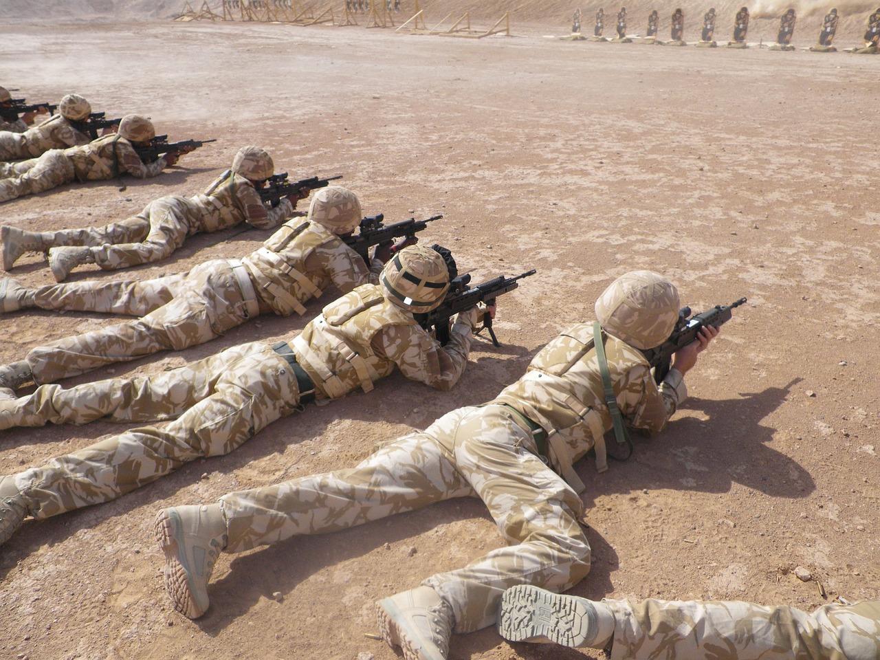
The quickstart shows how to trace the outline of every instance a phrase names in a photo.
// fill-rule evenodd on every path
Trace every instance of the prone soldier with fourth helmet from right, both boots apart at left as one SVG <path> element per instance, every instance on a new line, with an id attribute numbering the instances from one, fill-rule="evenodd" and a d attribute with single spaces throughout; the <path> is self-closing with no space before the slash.
<path id="1" fill-rule="evenodd" d="M 266 151 L 244 147 L 238 150 L 231 168 L 213 180 L 204 193 L 160 197 L 138 215 L 118 223 L 42 232 L 0 227 L 3 268 L 10 270 L 26 252 L 48 252 L 55 281 L 62 282 L 73 268 L 86 263 L 116 270 L 167 259 L 194 234 L 240 223 L 274 229 L 290 218 L 297 202 L 309 194 L 304 188 L 283 199 L 275 209 L 268 209 L 258 191 L 274 171 L 275 164 Z"/>

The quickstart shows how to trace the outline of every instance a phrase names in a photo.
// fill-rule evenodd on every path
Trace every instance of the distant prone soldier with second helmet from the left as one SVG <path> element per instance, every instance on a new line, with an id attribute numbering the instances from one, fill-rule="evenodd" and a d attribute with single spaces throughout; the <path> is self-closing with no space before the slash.
<path id="1" fill-rule="evenodd" d="M 58 104 L 58 114 L 24 133 L 0 132 L 0 160 L 36 158 L 50 149 L 67 149 L 92 141 L 88 119 L 92 106 L 79 94 L 68 94 Z"/>

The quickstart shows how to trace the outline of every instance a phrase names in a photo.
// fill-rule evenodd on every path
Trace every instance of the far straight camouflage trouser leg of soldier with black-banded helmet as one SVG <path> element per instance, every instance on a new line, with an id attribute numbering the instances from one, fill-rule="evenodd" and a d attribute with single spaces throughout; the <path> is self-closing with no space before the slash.
<path id="1" fill-rule="evenodd" d="M 109 422 L 164 422 L 174 419 L 215 391 L 228 365 L 260 347 L 227 348 L 170 371 L 147 377 L 110 378 L 70 388 L 40 385 L 17 400 L 0 400 L 0 429 L 18 426 Z"/>

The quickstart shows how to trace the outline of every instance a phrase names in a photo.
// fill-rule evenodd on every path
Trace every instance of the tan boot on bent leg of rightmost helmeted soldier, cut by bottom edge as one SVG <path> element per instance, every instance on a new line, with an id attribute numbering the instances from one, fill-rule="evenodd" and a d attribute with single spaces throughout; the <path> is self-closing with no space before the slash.
<path id="1" fill-rule="evenodd" d="M 376 613 L 382 639 L 399 646 L 404 660 L 446 660 L 455 621 L 435 590 L 422 586 L 383 598 Z"/>

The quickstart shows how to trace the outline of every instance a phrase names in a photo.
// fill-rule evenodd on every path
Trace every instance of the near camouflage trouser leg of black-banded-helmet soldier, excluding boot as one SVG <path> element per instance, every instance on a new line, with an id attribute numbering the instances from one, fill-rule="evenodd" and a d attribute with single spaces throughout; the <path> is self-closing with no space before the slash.
<path id="1" fill-rule="evenodd" d="M 131 429 L 16 475 L 31 516 L 109 502 L 196 458 L 226 454 L 296 410 L 299 394 L 290 365 L 267 344 L 246 347 L 224 365 L 211 395 L 174 422 Z"/>

